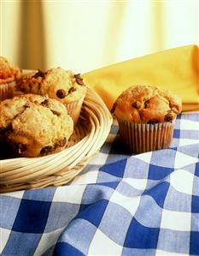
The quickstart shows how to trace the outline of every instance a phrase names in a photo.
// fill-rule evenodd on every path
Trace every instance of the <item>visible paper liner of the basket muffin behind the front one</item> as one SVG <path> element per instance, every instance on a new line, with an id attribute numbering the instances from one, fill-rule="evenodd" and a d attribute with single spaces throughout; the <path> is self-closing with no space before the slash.
<path id="1" fill-rule="evenodd" d="M 76 125 L 79 120 L 79 115 L 81 112 L 81 107 L 84 102 L 85 96 L 82 98 L 79 98 L 77 101 L 73 101 L 71 103 L 66 104 L 67 106 L 67 113 L 70 115 L 73 119 L 73 124 Z"/>

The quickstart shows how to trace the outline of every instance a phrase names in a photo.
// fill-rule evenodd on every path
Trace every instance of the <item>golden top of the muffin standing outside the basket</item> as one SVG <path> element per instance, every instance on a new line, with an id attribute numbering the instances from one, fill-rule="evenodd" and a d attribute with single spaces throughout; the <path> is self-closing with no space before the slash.
<path id="1" fill-rule="evenodd" d="M 131 86 L 115 101 L 116 118 L 136 123 L 173 122 L 181 112 L 181 99 L 158 86 Z"/>

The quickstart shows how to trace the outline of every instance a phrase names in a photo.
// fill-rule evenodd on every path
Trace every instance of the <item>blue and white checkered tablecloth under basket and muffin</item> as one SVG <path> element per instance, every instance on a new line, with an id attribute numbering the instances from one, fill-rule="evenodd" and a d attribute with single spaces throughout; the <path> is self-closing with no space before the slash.
<path id="1" fill-rule="evenodd" d="M 165 150 L 131 155 L 117 133 L 71 184 L 1 194 L 1 255 L 199 255 L 199 113 Z"/>

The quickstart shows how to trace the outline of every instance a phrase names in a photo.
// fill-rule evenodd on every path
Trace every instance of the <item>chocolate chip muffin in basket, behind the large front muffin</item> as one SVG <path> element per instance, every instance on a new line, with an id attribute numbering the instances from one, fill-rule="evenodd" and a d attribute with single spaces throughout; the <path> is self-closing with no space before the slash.
<path id="1" fill-rule="evenodd" d="M 18 83 L 17 90 L 56 98 L 67 106 L 67 112 L 76 124 L 85 98 L 86 86 L 80 74 L 73 74 L 72 71 L 62 68 L 51 68 L 46 72 L 38 70 L 35 74 L 26 75 Z"/>

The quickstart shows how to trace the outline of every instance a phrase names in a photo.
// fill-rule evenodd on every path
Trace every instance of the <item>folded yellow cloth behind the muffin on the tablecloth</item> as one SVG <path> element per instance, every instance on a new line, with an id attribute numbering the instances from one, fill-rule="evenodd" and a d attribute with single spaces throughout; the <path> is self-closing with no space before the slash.
<path id="1" fill-rule="evenodd" d="M 156 85 L 169 89 L 183 101 L 183 110 L 199 110 L 199 49 L 187 45 L 138 57 L 83 74 L 110 110 L 129 86 Z"/>

